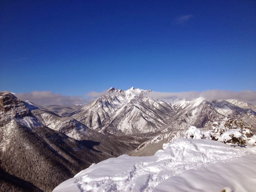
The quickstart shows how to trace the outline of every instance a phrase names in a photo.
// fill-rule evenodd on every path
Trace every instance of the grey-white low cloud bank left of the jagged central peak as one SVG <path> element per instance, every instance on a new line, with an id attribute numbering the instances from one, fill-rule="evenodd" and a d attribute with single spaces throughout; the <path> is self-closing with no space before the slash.
<path id="1" fill-rule="evenodd" d="M 30 93 L 18 93 L 15 96 L 20 100 L 29 100 L 37 105 L 74 105 L 86 102 L 80 96 L 61 95 L 51 91 L 32 91 Z"/>

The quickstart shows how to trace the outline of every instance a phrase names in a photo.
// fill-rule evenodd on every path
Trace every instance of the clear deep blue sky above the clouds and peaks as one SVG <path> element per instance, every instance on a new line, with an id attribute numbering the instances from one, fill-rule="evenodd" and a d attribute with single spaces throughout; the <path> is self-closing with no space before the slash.
<path id="1" fill-rule="evenodd" d="M 0 90 L 256 91 L 256 1 L 1 1 Z"/>

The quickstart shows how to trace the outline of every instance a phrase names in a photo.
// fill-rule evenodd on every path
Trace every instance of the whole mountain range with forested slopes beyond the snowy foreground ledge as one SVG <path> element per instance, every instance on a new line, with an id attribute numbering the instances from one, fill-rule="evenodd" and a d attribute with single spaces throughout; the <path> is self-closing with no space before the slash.
<path id="1" fill-rule="evenodd" d="M 237 100 L 151 98 L 110 88 L 81 106 L 37 106 L 0 92 L 0 190 L 51 191 L 91 163 L 151 155 L 190 125 L 229 116 L 256 127 L 256 106 Z"/>

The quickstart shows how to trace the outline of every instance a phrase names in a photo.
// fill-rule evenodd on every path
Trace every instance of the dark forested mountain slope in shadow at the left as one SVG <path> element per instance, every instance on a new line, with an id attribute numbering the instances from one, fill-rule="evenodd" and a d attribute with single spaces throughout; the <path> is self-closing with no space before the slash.
<path id="1" fill-rule="evenodd" d="M 73 118 L 46 113 L 10 92 L 0 92 L 0 138 L 0 191 L 52 191 L 91 163 L 136 147 Z"/>

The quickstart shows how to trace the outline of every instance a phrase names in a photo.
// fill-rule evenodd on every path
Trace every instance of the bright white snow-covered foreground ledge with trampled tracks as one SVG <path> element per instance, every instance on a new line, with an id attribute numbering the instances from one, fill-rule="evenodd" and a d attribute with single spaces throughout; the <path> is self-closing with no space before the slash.
<path id="1" fill-rule="evenodd" d="M 233 191 L 256 189 L 256 148 L 180 138 L 150 157 L 122 155 L 94 164 L 57 191 Z"/>

